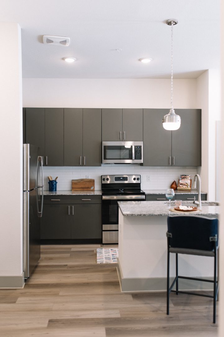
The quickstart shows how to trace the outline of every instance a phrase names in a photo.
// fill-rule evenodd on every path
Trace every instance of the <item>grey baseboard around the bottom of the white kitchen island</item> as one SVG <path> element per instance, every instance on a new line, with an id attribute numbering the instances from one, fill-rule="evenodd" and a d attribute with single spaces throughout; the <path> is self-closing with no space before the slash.
<path id="1" fill-rule="evenodd" d="M 117 272 L 122 292 L 162 292 L 167 290 L 166 277 L 124 278 L 122 275 L 119 258 L 117 259 L 117 264 Z M 212 277 L 207 277 L 207 279 L 213 280 Z M 173 280 L 174 277 L 170 277 L 170 285 L 172 284 Z M 179 279 L 178 286 L 179 290 L 213 290 L 213 283 L 203 281 Z M 175 286 L 173 289 L 175 290 Z"/>

